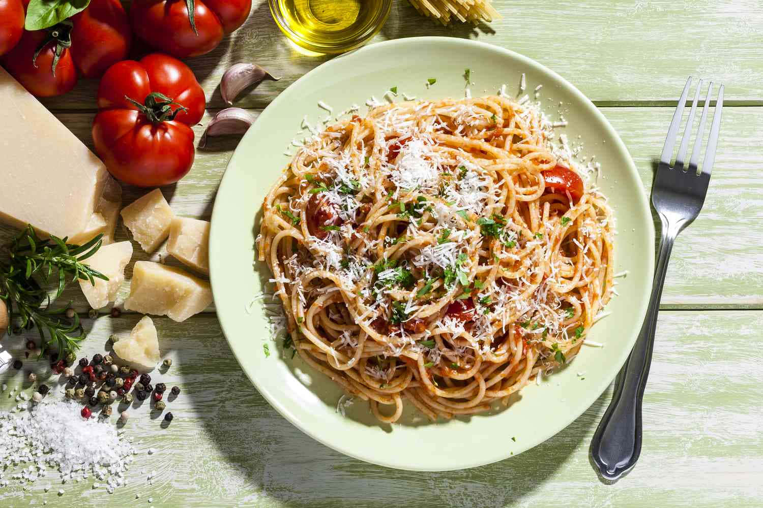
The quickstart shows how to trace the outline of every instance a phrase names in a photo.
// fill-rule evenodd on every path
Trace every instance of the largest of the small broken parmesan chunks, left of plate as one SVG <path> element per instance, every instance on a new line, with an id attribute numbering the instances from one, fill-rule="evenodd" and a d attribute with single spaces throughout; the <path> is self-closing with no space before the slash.
<path id="1" fill-rule="evenodd" d="M 208 282 L 175 267 L 138 261 L 133 267 L 130 297 L 124 308 L 144 314 L 166 315 L 185 321 L 212 303 Z"/>

